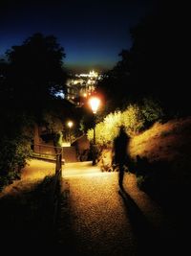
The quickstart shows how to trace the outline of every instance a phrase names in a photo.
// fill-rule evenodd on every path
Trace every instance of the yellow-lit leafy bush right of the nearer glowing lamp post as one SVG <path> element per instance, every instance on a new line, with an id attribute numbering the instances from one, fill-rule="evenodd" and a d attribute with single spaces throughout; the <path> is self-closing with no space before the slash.
<path id="1" fill-rule="evenodd" d="M 110 113 L 96 125 L 96 144 L 111 145 L 121 125 L 125 126 L 129 135 L 135 135 L 160 121 L 163 116 L 159 103 L 152 99 L 143 99 L 143 103 L 139 105 L 128 105 L 123 112 L 118 110 Z M 87 136 L 90 141 L 93 141 L 94 130 L 89 129 Z"/>

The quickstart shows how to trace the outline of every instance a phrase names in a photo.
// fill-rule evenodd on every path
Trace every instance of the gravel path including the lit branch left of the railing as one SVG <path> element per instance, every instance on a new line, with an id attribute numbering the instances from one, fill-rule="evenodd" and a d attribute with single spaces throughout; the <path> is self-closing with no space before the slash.
<path id="1" fill-rule="evenodd" d="M 8 186 L 0 198 L 17 197 L 53 173 L 53 163 L 32 160 L 22 179 Z M 187 255 L 189 236 L 178 234 L 174 214 L 166 218 L 159 205 L 138 189 L 135 175 L 125 174 L 124 187 L 125 192 L 119 193 L 117 173 L 102 173 L 91 162 L 65 164 L 54 252 L 62 249 L 73 256 Z M 49 251 L 48 242 L 46 248 Z"/>

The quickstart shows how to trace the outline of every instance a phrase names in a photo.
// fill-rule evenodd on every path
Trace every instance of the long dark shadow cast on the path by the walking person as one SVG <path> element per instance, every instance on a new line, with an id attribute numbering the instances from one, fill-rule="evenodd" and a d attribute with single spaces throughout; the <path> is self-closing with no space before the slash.
<path id="1" fill-rule="evenodd" d="M 146 219 L 134 199 L 124 189 L 119 190 L 118 194 L 123 199 L 127 218 L 130 220 L 137 238 L 137 255 L 167 255 L 166 240 Z"/>

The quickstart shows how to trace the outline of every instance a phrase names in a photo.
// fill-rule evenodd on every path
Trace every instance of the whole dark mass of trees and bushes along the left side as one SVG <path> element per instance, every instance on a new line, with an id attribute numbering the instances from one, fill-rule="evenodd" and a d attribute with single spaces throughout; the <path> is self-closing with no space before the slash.
<path id="1" fill-rule="evenodd" d="M 72 104 L 55 97 L 65 90 L 64 58 L 53 35 L 34 34 L 0 61 L 0 188 L 25 166 L 35 124 L 56 135 L 78 116 Z"/>

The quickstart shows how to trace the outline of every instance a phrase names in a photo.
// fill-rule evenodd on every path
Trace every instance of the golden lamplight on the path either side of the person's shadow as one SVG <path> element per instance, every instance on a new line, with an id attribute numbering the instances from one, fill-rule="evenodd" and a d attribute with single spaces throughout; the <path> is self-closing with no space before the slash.
<path id="1" fill-rule="evenodd" d="M 63 195 L 68 202 L 63 203 L 58 236 L 60 244 L 68 245 L 74 240 L 69 241 L 67 234 L 70 230 L 74 231 L 74 255 L 81 255 L 81 252 L 84 252 L 82 255 L 92 256 L 137 255 L 137 238 L 128 216 L 129 208 L 118 195 L 117 175 L 117 172 L 101 172 L 98 166 L 92 166 L 92 162 L 64 166 Z M 139 191 L 136 176 L 126 173 L 124 187 L 138 211 L 141 211 L 141 216 L 145 215 L 154 226 L 159 227 L 162 221 L 159 207 Z M 134 212 L 135 208 L 131 210 Z M 71 220 L 69 233 L 66 221 L 63 221 L 67 212 Z"/>

